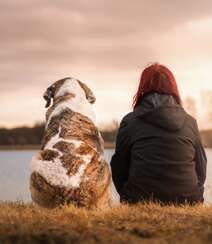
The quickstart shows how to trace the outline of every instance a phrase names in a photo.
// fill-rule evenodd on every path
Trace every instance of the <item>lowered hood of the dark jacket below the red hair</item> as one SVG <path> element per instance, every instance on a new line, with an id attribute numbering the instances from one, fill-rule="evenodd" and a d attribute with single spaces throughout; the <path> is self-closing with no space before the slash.
<path id="1" fill-rule="evenodd" d="M 144 96 L 134 113 L 146 122 L 169 131 L 180 130 L 186 118 L 185 110 L 173 96 L 159 93 Z"/>

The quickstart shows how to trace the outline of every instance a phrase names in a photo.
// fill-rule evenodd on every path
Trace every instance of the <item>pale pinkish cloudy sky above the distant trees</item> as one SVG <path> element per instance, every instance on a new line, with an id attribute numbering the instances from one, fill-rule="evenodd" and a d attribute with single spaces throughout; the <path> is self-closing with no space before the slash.
<path id="1" fill-rule="evenodd" d="M 211 0 L 0 0 L 0 33 L 0 126 L 44 121 L 43 92 L 67 76 L 93 90 L 100 126 L 119 121 L 160 62 L 212 127 Z"/>

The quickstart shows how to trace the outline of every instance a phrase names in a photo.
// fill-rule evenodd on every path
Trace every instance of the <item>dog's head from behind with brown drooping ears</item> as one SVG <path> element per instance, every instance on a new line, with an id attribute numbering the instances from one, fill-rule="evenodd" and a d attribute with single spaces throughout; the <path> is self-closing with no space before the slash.
<path id="1" fill-rule="evenodd" d="M 74 78 L 64 78 L 54 82 L 50 87 L 45 91 L 43 98 L 46 100 L 46 108 L 51 105 L 51 100 L 60 96 L 64 96 L 67 94 L 72 94 L 75 96 L 83 96 L 85 95 L 86 99 L 89 103 L 93 104 L 96 101 L 96 98 L 83 82 L 74 79 Z"/>

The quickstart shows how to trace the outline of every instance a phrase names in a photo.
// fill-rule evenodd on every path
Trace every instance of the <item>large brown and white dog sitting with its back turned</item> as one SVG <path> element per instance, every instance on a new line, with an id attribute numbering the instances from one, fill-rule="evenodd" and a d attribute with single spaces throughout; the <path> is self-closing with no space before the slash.
<path id="1" fill-rule="evenodd" d="M 53 208 L 73 203 L 104 208 L 112 203 L 111 173 L 103 158 L 104 143 L 95 126 L 95 97 L 81 81 L 56 81 L 44 94 L 46 128 L 42 150 L 31 161 L 34 202 Z"/>

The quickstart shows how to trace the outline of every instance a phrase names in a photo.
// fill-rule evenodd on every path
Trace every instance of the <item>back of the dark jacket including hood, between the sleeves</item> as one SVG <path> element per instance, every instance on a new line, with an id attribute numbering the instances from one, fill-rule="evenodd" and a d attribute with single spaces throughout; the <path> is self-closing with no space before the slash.
<path id="1" fill-rule="evenodd" d="M 131 164 L 125 187 L 132 184 L 170 201 L 177 197 L 199 198 L 203 189 L 198 185 L 195 168 L 195 120 L 171 96 L 154 93 L 146 96 L 124 121 L 131 137 Z"/>

